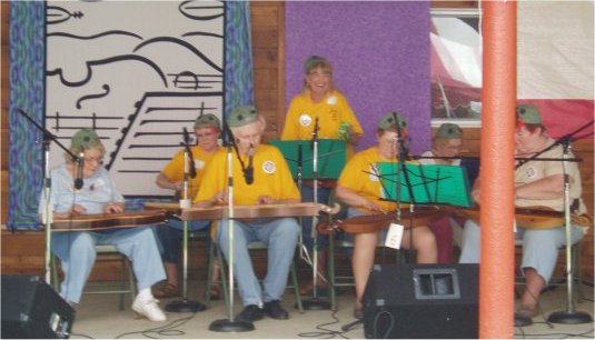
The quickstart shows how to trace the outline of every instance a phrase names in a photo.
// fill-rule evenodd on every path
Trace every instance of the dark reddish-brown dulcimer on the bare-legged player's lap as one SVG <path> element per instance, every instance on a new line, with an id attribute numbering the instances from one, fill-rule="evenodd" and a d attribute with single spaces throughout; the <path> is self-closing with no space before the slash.
<path id="1" fill-rule="evenodd" d="M 439 219 L 446 212 L 436 206 L 416 206 L 411 212 L 409 208 L 400 209 L 400 220 L 397 221 L 396 211 L 376 214 L 363 214 L 345 220 L 334 220 L 331 223 L 318 223 L 318 232 L 333 233 L 337 229 L 348 233 L 377 232 L 387 229 L 390 223 L 399 223 L 405 228 L 427 226 Z"/>

